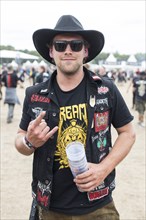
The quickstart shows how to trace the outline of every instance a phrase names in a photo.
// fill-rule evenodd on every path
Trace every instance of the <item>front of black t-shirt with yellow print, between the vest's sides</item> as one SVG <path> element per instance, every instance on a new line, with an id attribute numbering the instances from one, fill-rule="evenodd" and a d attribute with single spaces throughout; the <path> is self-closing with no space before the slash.
<path id="1" fill-rule="evenodd" d="M 86 193 L 78 191 L 73 182 L 65 153 L 71 141 L 85 144 L 87 131 L 86 79 L 73 90 L 62 91 L 55 82 L 55 93 L 60 104 L 60 122 L 57 148 L 53 167 L 53 189 L 50 209 L 68 213 L 78 213 L 78 208 L 87 201 Z"/>

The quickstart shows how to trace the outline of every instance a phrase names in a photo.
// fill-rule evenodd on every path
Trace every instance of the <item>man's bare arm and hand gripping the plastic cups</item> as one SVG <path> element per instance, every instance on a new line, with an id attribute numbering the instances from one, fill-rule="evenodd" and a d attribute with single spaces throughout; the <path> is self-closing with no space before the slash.
<path id="1" fill-rule="evenodd" d="M 126 157 L 135 142 L 132 123 L 117 129 L 118 137 L 108 156 L 99 164 L 89 163 L 89 170 L 75 178 L 83 191 L 91 191 L 100 185 L 111 171 Z"/>

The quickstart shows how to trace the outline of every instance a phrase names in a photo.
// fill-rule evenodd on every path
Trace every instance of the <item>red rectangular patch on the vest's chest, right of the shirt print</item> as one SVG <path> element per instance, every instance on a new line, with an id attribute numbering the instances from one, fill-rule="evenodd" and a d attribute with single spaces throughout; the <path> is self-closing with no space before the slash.
<path id="1" fill-rule="evenodd" d="M 108 126 L 109 112 L 94 113 L 95 132 L 105 130 Z"/>

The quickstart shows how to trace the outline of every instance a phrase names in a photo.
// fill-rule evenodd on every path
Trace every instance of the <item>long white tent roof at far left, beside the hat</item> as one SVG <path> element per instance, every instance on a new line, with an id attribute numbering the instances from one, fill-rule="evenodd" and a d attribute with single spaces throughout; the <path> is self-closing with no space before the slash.
<path id="1" fill-rule="evenodd" d="M 39 57 L 23 53 L 21 51 L 13 50 L 0 50 L 0 58 L 12 58 L 12 59 L 26 59 L 26 60 L 37 60 Z"/>

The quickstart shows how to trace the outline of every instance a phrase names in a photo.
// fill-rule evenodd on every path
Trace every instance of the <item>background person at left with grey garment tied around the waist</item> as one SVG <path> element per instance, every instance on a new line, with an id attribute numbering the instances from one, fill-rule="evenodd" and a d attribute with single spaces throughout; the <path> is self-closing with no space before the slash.
<path id="1" fill-rule="evenodd" d="M 19 81 L 20 79 L 17 76 L 16 71 L 13 70 L 13 66 L 11 64 L 8 64 L 7 70 L 2 77 L 2 82 L 6 87 L 4 104 L 8 104 L 7 123 L 12 122 L 15 104 L 20 104 L 16 93 L 17 83 Z"/>

